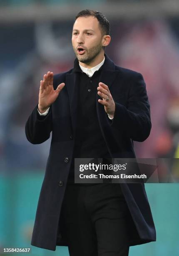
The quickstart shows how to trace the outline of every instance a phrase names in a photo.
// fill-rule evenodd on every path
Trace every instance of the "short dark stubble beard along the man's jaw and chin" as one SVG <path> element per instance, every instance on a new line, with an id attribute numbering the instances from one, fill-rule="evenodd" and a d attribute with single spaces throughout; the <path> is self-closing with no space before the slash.
<path id="1" fill-rule="evenodd" d="M 97 44 L 96 46 L 93 46 L 90 49 L 85 48 L 85 54 L 84 55 L 79 55 L 77 54 L 77 50 L 73 47 L 73 50 L 75 51 L 75 54 L 77 56 L 78 61 L 88 64 L 90 63 L 93 59 L 96 58 L 96 56 L 100 53 L 102 50 L 102 45 L 101 43 Z"/>

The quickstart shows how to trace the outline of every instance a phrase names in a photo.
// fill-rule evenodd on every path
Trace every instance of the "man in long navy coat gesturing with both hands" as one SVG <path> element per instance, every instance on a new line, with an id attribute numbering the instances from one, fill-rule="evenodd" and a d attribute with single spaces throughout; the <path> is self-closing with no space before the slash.
<path id="1" fill-rule="evenodd" d="M 31 244 L 70 256 L 127 256 L 129 246 L 156 240 L 144 184 L 74 183 L 74 158 L 134 158 L 133 141 L 150 133 L 141 74 L 104 54 L 109 21 L 83 10 L 72 30 L 74 68 L 40 81 L 27 139 L 52 141 Z"/>

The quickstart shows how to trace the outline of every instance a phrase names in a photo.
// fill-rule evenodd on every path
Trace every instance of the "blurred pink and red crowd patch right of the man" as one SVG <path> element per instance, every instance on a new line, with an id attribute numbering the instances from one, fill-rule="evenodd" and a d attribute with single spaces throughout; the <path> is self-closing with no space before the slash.
<path id="1" fill-rule="evenodd" d="M 119 47 L 118 47 L 119 46 Z M 151 105 L 152 130 L 136 143 L 138 157 L 172 157 L 179 142 L 179 44 L 164 20 L 139 22 L 117 45 L 122 67 L 142 73 Z"/>

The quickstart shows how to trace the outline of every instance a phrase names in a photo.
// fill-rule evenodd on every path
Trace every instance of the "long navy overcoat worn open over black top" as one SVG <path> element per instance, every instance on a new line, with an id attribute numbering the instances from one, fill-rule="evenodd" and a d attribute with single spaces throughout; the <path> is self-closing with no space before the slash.
<path id="1" fill-rule="evenodd" d="M 135 158 L 133 141 L 144 141 L 151 130 L 150 106 L 144 79 L 141 74 L 118 67 L 105 54 L 100 82 L 107 84 L 114 99 L 114 119 L 109 120 L 104 106 L 97 100 L 97 117 L 102 136 L 112 158 Z M 32 234 L 33 246 L 55 251 L 56 245 L 67 246 L 59 229 L 59 217 L 67 177 L 73 155 L 75 127 L 77 123 L 77 74 L 73 69 L 54 76 L 54 89 L 65 82 L 49 113 L 42 117 L 37 105 L 25 125 L 28 141 L 39 144 L 50 137 L 52 141 L 45 177 L 37 205 Z M 130 245 L 156 241 L 144 184 L 121 184 L 129 207 L 128 225 Z"/>

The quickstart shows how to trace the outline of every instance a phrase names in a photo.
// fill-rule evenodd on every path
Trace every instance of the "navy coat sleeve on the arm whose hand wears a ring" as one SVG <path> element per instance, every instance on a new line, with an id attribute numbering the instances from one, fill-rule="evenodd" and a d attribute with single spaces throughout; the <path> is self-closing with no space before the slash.
<path id="1" fill-rule="evenodd" d="M 115 102 L 111 126 L 125 133 L 133 141 L 144 141 L 150 134 L 150 105 L 142 74 L 136 73 L 129 89 L 127 106 Z"/>

